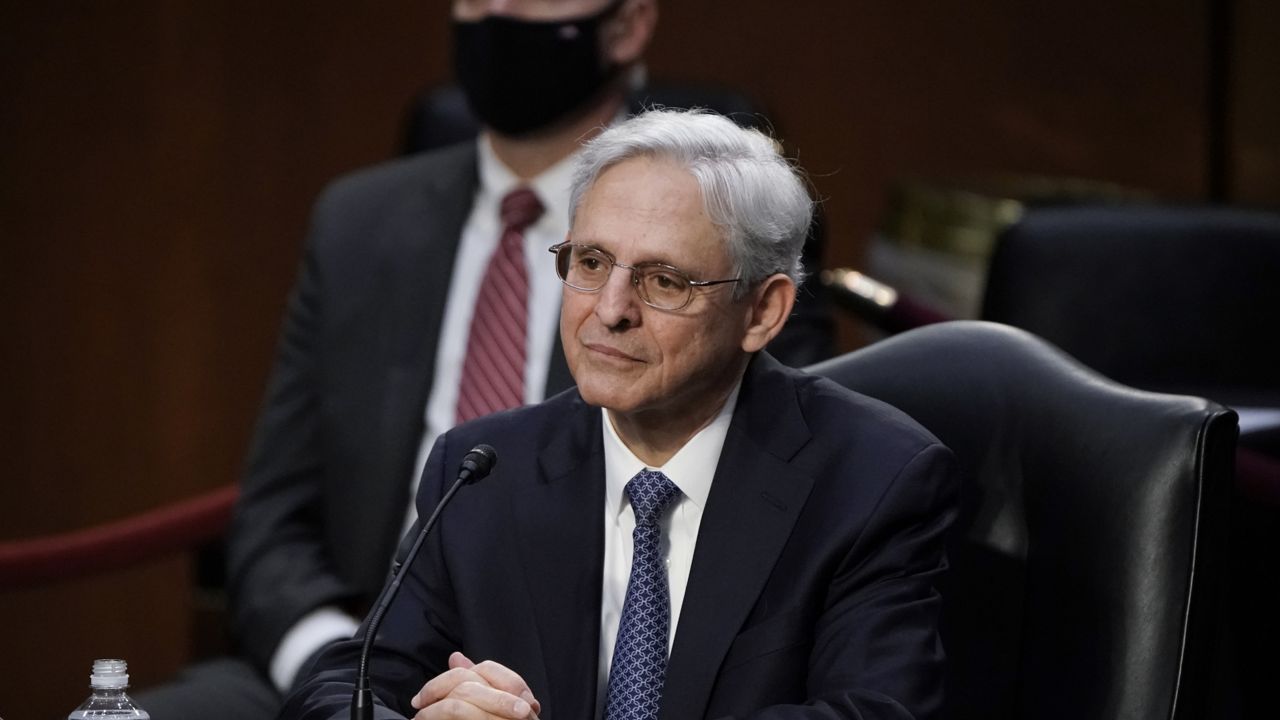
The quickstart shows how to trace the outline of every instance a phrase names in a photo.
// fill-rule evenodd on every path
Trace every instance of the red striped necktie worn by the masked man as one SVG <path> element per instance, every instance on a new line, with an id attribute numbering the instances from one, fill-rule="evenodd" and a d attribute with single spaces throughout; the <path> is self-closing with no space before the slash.
<path id="1" fill-rule="evenodd" d="M 527 187 L 517 187 L 502 199 L 502 240 L 489 258 L 471 318 L 458 386 L 458 423 L 525 402 L 525 228 L 541 214 L 543 204 Z"/>

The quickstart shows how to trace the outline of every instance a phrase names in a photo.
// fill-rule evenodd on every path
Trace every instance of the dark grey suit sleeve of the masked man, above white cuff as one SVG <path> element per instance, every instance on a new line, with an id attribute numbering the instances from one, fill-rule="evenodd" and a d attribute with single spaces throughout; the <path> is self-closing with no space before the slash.
<path id="1" fill-rule="evenodd" d="M 312 228 L 323 224 L 320 208 Z M 317 360 L 325 278 L 315 234 L 289 296 L 228 539 L 232 632 L 264 670 L 302 615 L 352 594 L 323 537 Z"/>

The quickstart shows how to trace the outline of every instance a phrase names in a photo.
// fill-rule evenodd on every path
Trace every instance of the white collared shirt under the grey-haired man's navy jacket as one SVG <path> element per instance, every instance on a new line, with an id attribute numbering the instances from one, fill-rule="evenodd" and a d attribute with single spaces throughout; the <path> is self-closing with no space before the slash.
<path id="1" fill-rule="evenodd" d="M 600 664 L 598 675 L 596 711 L 604 712 L 604 701 L 609 682 L 609 664 L 613 661 L 613 644 L 617 641 L 618 621 L 622 618 L 622 603 L 627 596 L 627 582 L 631 577 L 631 533 L 636 520 L 623 488 L 636 473 L 644 469 L 660 470 L 662 474 L 680 488 L 680 498 L 659 520 L 662 527 L 660 552 L 667 560 L 667 583 L 671 588 L 671 629 L 667 638 L 667 652 L 676 639 L 680 610 L 685 601 L 685 588 L 689 585 L 689 570 L 694 562 L 694 547 L 698 543 L 698 529 L 703 521 L 703 509 L 712 492 L 712 478 L 719 465 L 724 438 L 728 436 L 733 407 L 737 406 L 737 393 L 741 380 L 724 400 L 719 414 L 662 468 L 649 468 L 622 442 L 609 413 L 604 414 L 604 588 L 600 600 Z"/>

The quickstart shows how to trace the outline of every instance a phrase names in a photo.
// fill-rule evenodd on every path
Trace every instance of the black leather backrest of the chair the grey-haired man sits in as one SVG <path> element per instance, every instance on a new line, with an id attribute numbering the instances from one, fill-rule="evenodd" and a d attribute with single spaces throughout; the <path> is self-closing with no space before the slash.
<path id="1" fill-rule="evenodd" d="M 1116 384 L 1005 325 L 929 325 L 810 368 L 955 451 L 951 717 L 1203 710 L 1235 414 Z"/>

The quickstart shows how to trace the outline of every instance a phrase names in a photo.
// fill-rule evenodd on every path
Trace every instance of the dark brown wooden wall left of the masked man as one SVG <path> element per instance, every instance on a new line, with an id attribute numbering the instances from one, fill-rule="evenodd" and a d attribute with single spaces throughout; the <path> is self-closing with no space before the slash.
<path id="1" fill-rule="evenodd" d="M 444 68 L 425 3 L 0 5 L 0 539 L 239 474 L 308 206 Z M 0 589 L 0 716 L 188 656 L 187 559 Z"/>

